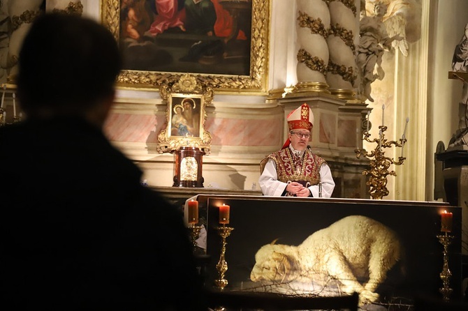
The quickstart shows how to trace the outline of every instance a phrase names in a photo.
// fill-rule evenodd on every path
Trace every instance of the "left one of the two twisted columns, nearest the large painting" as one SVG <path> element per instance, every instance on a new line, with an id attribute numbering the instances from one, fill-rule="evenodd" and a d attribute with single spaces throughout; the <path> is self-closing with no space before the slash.
<path id="1" fill-rule="evenodd" d="M 330 29 L 330 12 L 322 0 L 296 0 L 298 84 L 293 92 L 328 91 L 326 82 L 328 66 L 328 44 L 326 38 Z"/>

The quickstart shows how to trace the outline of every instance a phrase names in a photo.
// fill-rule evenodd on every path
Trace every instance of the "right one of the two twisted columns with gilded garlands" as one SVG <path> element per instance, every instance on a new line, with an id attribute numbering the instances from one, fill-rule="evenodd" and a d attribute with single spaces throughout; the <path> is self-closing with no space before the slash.
<path id="1" fill-rule="evenodd" d="M 356 96 L 357 66 L 356 45 L 358 36 L 357 8 L 354 0 L 331 0 L 330 32 L 327 44 L 330 51 L 326 81 L 330 92 L 339 98 L 353 99 Z"/>

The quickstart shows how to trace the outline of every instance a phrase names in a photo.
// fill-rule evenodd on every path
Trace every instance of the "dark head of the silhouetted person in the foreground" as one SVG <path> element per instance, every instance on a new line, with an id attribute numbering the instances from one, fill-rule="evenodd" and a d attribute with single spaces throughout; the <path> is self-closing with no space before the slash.
<path id="1" fill-rule="evenodd" d="M 31 118 L 99 114 L 98 107 L 115 96 L 121 68 L 117 41 L 103 25 L 78 15 L 44 13 L 22 44 L 17 96 Z"/>

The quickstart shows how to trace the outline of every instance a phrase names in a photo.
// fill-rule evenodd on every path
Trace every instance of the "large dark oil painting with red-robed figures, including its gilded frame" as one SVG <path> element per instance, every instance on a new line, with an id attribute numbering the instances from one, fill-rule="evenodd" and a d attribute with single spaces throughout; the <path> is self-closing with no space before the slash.
<path id="1" fill-rule="evenodd" d="M 123 88 L 183 74 L 220 92 L 265 93 L 270 0 L 103 0 L 124 54 Z"/>

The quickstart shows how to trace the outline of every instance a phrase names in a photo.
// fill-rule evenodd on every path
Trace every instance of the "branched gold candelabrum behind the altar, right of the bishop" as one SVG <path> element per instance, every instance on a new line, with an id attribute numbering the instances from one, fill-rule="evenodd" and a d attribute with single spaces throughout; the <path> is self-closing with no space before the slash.
<path id="1" fill-rule="evenodd" d="M 385 138 L 385 131 L 387 130 L 386 126 L 379 126 L 379 138 L 370 139 L 369 129 L 363 134 L 363 139 L 366 142 L 375 142 L 376 147 L 373 151 L 367 152 L 365 149 L 356 149 L 356 157 L 360 158 L 362 155 L 370 159 L 370 169 L 365 169 L 363 175 L 368 175 L 369 180 L 366 182 L 366 185 L 370 186 L 370 196 L 372 199 L 382 199 L 388 195 L 387 185 L 387 176 L 393 175 L 397 176 L 395 171 L 389 171 L 388 168 L 390 165 L 402 165 L 404 158 L 403 157 L 403 148 L 404 144 L 407 142 L 406 137 L 402 136 L 399 142 L 395 140 L 387 141 Z M 398 160 L 395 161 L 393 158 L 388 158 L 385 156 L 384 149 L 391 148 L 392 146 L 397 146 L 402 148 L 402 155 L 398 157 Z"/>

